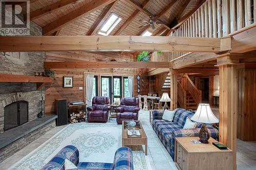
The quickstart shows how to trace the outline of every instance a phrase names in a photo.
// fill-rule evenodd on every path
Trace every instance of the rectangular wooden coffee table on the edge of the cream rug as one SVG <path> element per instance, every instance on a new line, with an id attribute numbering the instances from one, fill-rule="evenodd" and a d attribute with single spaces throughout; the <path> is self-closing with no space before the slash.
<path id="1" fill-rule="evenodd" d="M 124 120 L 122 122 L 122 147 L 124 147 L 125 145 L 145 145 L 145 155 L 147 155 L 147 137 L 140 123 L 140 120 L 135 121 L 136 122 L 135 128 L 138 128 L 140 130 L 141 137 L 129 138 L 127 136 L 127 129 L 128 129 L 129 122 L 131 122 L 131 120 Z"/>

